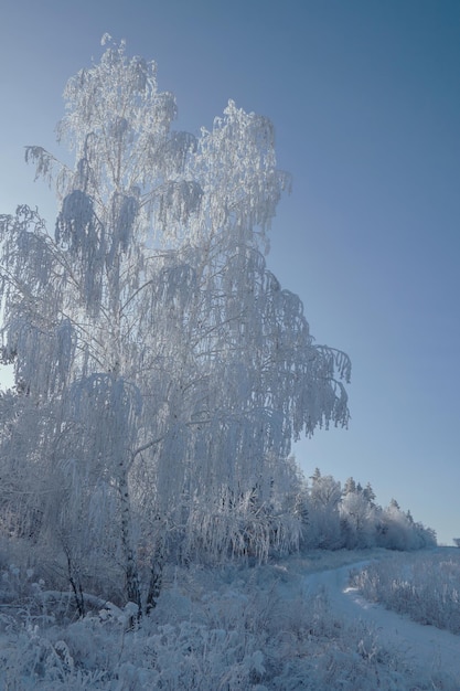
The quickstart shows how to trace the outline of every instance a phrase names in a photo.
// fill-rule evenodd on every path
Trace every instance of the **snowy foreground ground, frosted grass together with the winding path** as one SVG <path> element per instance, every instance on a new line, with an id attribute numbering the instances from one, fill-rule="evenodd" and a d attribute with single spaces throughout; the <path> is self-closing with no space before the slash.
<path id="1" fill-rule="evenodd" d="M 171 570 L 153 614 L 129 632 L 129 608 L 109 604 L 72 621 L 62 600 L 57 618 L 45 585 L 24 574 L 21 606 L 0 609 L 0 689 L 458 691 L 460 637 L 350 586 L 351 570 L 391 559 L 315 551 L 261 566 Z M 3 584 L 12 578 L 21 574 L 10 570 Z"/>

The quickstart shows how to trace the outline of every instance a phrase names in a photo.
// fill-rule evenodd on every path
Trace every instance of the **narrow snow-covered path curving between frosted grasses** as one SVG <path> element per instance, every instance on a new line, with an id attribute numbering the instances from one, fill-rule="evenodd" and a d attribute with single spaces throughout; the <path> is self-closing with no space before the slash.
<path id="1" fill-rule="evenodd" d="M 373 627 L 382 644 L 395 647 L 418 669 L 428 673 L 447 672 L 458 680 L 460 690 L 460 636 L 424 626 L 409 618 L 368 603 L 349 586 L 351 568 L 360 568 L 368 562 L 341 566 L 306 576 L 309 589 L 323 588 L 334 614 L 347 621 L 362 620 Z"/>

